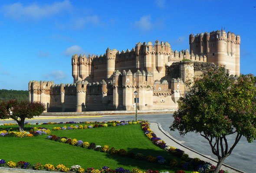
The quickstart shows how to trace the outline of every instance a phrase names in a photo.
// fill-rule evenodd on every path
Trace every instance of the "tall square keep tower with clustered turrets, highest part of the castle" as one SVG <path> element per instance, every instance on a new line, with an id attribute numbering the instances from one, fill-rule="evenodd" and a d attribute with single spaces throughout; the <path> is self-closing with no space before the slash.
<path id="1" fill-rule="evenodd" d="M 207 62 L 226 65 L 230 74 L 240 75 L 240 35 L 217 30 L 189 36 L 190 54 L 207 56 Z"/>

